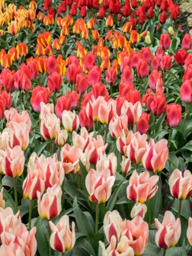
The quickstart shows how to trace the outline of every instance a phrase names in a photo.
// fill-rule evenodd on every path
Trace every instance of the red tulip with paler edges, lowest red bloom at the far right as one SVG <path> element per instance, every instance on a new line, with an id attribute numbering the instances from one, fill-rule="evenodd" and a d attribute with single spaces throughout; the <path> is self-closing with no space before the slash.
<path id="1" fill-rule="evenodd" d="M 171 103 L 166 106 L 166 125 L 176 127 L 182 118 L 182 106 L 176 103 Z"/>

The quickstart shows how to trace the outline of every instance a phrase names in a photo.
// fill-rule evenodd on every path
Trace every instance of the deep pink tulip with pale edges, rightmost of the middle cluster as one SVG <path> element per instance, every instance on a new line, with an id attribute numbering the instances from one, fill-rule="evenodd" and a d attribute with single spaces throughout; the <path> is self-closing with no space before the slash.
<path id="1" fill-rule="evenodd" d="M 149 141 L 149 149 L 143 155 L 143 166 L 148 171 L 157 172 L 162 171 L 168 160 L 169 149 L 167 147 L 168 141 L 162 139 L 157 143 L 151 138 Z"/>

